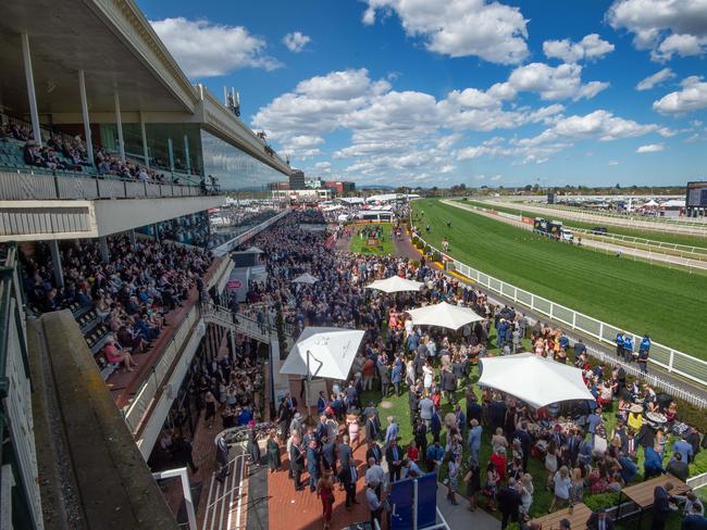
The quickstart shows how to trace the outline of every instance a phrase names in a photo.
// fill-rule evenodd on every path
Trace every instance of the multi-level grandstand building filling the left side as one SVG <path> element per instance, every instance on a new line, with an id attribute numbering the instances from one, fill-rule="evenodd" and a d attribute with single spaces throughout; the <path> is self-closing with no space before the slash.
<path id="1" fill-rule="evenodd" d="M 287 211 L 225 195 L 268 197 L 290 169 L 189 83 L 133 0 L 11 2 L 0 29 L 0 526 L 177 528 L 151 471 L 165 424 L 194 430 L 193 368 L 272 342 L 218 304 L 228 251 Z M 226 203 L 216 232 L 208 212 Z M 99 281 L 131 289 L 124 257 L 170 278 L 145 294 L 168 321 L 126 373 L 95 302 Z M 185 503 L 191 525 L 188 488 Z"/>

